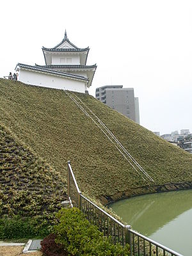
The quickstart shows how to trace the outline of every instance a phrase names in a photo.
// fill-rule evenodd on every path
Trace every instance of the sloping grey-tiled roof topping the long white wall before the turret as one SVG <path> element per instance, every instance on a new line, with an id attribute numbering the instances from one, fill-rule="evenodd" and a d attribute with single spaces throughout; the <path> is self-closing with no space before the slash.
<path id="1" fill-rule="evenodd" d="M 22 63 L 17 63 L 15 70 L 17 70 L 17 67 L 28 69 L 28 70 L 34 70 L 37 72 L 49 73 L 49 74 L 56 75 L 56 76 L 63 76 L 63 77 L 68 77 L 68 78 L 77 79 L 77 80 L 83 80 L 83 81 L 87 81 L 87 82 L 89 81 L 88 78 L 83 77 L 83 76 L 77 76 L 77 75 L 69 74 L 69 73 L 65 73 L 65 72 L 54 71 L 49 68 L 35 67 L 35 66 L 31 66 L 31 65 L 22 64 Z"/>

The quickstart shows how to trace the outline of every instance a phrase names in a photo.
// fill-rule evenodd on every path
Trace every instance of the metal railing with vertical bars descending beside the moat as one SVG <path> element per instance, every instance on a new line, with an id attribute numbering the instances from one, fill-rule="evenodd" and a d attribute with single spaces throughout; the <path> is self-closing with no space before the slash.
<path id="1" fill-rule="evenodd" d="M 122 246 L 129 244 L 131 256 L 182 256 L 180 253 L 174 252 L 170 248 L 132 230 L 130 225 L 124 225 L 82 195 L 70 161 L 67 164 L 67 182 L 68 199 L 72 207 L 79 208 L 90 222 L 97 225 L 104 236 L 111 237 L 114 244 L 120 243 Z"/>

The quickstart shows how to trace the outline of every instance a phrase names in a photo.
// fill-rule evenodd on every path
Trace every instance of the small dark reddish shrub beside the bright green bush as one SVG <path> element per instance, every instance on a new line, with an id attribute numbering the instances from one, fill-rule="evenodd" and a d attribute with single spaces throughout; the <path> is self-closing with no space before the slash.
<path id="1" fill-rule="evenodd" d="M 41 251 L 46 256 L 66 256 L 68 252 L 63 248 L 63 245 L 56 244 L 56 235 L 50 234 L 41 241 Z"/>

